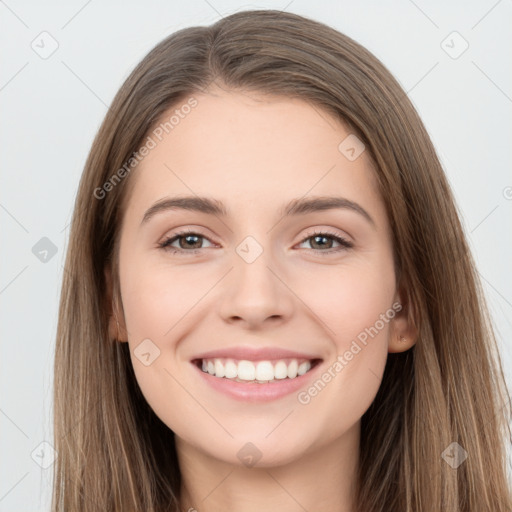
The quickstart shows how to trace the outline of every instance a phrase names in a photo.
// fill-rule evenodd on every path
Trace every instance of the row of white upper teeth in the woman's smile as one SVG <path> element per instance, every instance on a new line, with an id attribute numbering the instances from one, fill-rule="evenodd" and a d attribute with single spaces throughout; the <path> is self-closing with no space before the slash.
<path id="1" fill-rule="evenodd" d="M 268 382 L 274 379 L 294 379 L 304 375 L 311 369 L 310 361 L 297 359 L 278 361 L 247 361 L 235 359 L 203 359 L 202 369 L 215 377 L 240 379 L 244 381 L 257 380 Z"/>

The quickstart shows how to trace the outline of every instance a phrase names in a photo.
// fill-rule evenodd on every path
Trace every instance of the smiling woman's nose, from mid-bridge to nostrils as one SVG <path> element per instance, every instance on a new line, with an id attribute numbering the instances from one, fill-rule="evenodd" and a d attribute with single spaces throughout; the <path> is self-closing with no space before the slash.
<path id="1" fill-rule="evenodd" d="M 226 276 L 220 298 L 220 315 L 225 322 L 244 324 L 248 329 L 286 322 L 293 312 L 293 292 L 266 251 L 252 263 L 235 254 L 234 268 Z"/>

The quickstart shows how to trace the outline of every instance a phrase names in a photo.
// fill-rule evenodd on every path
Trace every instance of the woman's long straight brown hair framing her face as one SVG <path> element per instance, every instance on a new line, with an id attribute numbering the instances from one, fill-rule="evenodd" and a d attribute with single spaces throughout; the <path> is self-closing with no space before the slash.
<path id="1" fill-rule="evenodd" d="M 143 398 L 128 344 L 109 340 L 105 269 L 113 269 L 120 303 L 119 228 L 134 171 L 117 171 L 126 171 L 165 112 L 214 81 L 299 98 L 334 114 L 374 163 L 397 279 L 419 336 L 406 352 L 388 354 L 379 392 L 362 417 L 358 510 L 510 512 L 510 396 L 429 135 L 374 55 L 324 24 L 273 10 L 239 12 L 159 43 L 122 85 L 94 140 L 60 299 L 52 510 L 179 510 L 174 433 Z M 454 454 L 459 464 L 449 463 Z M 457 454 L 467 458 L 460 463 Z"/>

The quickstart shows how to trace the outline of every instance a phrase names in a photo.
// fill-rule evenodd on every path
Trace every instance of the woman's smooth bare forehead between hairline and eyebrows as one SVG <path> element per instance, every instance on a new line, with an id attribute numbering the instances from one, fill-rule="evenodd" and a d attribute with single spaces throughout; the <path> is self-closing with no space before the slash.
<path id="1" fill-rule="evenodd" d="M 191 97 L 195 106 L 182 108 Z M 350 160 L 340 150 L 354 134 L 300 99 L 221 89 L 193 94 L 149 136 L 154 147 L 131 177 L 136 209 L 183 194 L 215 197 L 246 212 L 305 195 L 350 195 L 379 206 L 367 152 Z"/>

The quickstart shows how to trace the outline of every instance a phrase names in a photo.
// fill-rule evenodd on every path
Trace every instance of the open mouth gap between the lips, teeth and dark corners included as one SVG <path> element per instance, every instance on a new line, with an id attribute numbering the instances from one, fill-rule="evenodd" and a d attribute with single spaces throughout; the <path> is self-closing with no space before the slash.
<path id="1" fill-rule="evenodd" d="M 272 384 L 298 379 L 322 362 L 320 358 L 281 358 L 253 361 L 234 358 L 199 358 L 192 364 L 222 380 L 245 384 Z"/>

